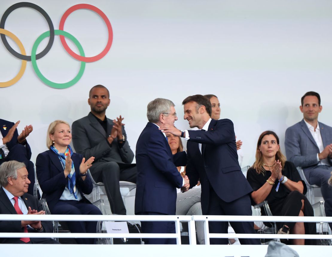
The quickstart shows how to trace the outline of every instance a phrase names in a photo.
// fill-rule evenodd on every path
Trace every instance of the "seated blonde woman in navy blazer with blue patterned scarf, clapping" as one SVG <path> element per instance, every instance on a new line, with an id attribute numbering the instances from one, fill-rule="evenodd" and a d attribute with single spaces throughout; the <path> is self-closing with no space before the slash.
<path id="1" fill-rule="evenodd" d="M 101 215 L 83 194 L 92 192 L 92 181 L 87 176 L 94 157 L 85 161 L 73 153 L 70 126 L 62 120 L 53 121 L 47 130 L 49 148 L 37 156 L 37 178 L 51 214 Z M 73 233 L 96 233 L 97 222 L 67 222 Z M 94 238 L 76 238 L 79 244 L 92 244 Z"/>

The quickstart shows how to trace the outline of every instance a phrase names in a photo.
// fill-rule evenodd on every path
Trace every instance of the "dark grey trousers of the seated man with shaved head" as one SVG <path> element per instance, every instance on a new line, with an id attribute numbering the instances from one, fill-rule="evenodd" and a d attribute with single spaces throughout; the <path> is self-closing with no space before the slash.
<path id="1" fill-rule="evenodd" d="M 96 182 L 104 183 L 112 213 L 126 215 L 119 181 L 136 183 L 136 164 L 117 163 L 115 161 L 94 162 L 91 167 L 91 175 Z"/>

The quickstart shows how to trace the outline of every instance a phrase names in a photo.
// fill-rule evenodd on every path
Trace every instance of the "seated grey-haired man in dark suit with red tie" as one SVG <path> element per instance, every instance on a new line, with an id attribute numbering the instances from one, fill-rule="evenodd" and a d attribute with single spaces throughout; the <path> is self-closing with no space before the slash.
<path id="1" fill-rule="evenodd" d="M 43 215 L 37 198 L 28 192 L 30 181 L 23 162 L 6 161 L 0 165 L 0 214 Z M 51 233 L 49 221 L 0 221 L 0 232 L 27 233 L 23 238 L 0 238 L 0 243 L 56 244 L 51 238 L 30 238 L 30 233 Z"/>

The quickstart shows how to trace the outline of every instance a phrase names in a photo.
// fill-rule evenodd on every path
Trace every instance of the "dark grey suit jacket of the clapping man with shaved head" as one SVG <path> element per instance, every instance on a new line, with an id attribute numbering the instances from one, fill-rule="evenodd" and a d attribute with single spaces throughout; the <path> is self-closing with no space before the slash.
<path id="1" fill-rule="evenodd" d="M 112 127 L 113 121 L 107 119 L 106 133 L 91 112 L 88 116 L 74 121 L 72 124 L 72 135 L 75 151 L 86 159 L 91 156 L 95 157 L 94 162 L 115 161 L 117 163 L 131 163 L 134 159 L 134 153 L 131 151 L 127 140 L 121 148 L 117 138 L 112 142 L 111 146 L 107 142 L 107 137 L 111 134 Z M 127 138 L 124 127 L 122 133 Z"/>

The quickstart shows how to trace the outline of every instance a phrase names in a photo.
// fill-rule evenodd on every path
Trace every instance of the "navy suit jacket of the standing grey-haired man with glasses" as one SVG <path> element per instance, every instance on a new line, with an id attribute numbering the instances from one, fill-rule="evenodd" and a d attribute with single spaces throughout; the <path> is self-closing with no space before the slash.
<path id="1" fill-rule="evenodd" d="M 163 133 L 148 122 L 136 144 L 137 183 L 135 214 L 175 215 L 176 188 L 183 179 L 176 166 L 185 166 L 186 153 L 172 155 Z"/>

